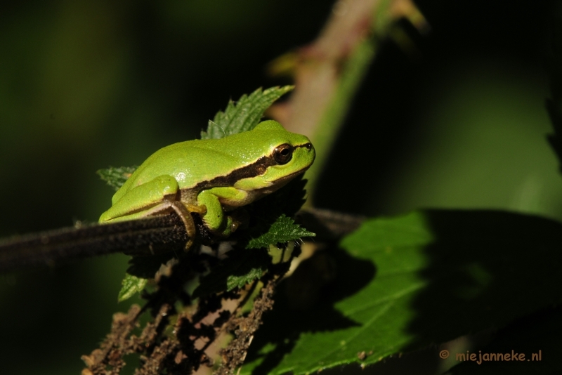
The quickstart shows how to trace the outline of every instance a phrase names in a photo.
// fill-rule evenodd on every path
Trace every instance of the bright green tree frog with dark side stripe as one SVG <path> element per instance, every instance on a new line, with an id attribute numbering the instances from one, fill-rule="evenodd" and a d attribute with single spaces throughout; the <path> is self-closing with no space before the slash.
<path id="1" fill-rule="evenodd" d="M 226 212 L 275 192 L 313 164 L 306 136 L 276 121 L 221 139 L 188 140 L 164 147 L 141 164 L 112 197 L 100 223 L 175 211 L 190 240 L 197 233 L 192 212 L 211 233 L 228 236 L 239 224 Z"/>

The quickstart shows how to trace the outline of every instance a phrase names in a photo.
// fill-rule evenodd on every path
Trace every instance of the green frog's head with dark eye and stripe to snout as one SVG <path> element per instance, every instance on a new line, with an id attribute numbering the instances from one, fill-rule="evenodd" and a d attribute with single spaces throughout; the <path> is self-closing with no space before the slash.
<path id="1" fill-rule="evenodd" d="M 252 164 L 252 176 L 235 183 L 239 189 L 268 194 L 304 173 L 314 162 L 316 154 L 311 141 L 286 131 L 277 121 L 263 121 L 250 132 L 251 138 L 263 147 L 263 156 Z"/>

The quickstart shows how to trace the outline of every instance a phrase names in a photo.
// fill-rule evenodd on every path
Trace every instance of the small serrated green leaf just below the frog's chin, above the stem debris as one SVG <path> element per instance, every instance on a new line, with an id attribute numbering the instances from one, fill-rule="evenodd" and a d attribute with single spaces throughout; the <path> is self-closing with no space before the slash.
<path id="1" fill-rule="evenodd" d="M 300 225 L 295 224 L 292 218 L 282 213 L 270 226 L 268 232 L 263 233 L 259 237 L 250 239 L 246 249 L 259 249 L 261 247 L 268 247 L 270 244 L 285 243 L 296 241 L 301 237 L 314 236 L 315 233 L 309 232 Z"/>

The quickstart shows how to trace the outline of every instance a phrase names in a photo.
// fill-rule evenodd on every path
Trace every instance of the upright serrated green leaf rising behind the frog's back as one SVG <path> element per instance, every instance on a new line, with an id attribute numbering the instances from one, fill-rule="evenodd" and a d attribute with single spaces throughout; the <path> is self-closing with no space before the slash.
<path id="1" fill-rule="evenodd" d="M 258 88 L 249 96 L 242 95 L 237 102 L 230 100 L 226 110 L 217 112 L 213 121 L 209 121 L 207 131 L 201 132 L 201 139 L 223 138 L 254 129 L 263 117 L 263 112 L 293 88 L 294 86 L 277 86 L 263 91 Z"/>

